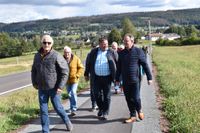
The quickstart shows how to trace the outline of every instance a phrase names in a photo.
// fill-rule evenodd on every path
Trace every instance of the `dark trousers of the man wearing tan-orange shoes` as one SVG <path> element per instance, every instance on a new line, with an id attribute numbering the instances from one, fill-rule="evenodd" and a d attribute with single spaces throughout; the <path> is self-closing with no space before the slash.
<path id="1" fill-rule="evenodd" d="M 130 111 L 130 116 L 136 116 L 136 111 L 141 111 L 140 83 L 123 84 L 124 95 Z"/>

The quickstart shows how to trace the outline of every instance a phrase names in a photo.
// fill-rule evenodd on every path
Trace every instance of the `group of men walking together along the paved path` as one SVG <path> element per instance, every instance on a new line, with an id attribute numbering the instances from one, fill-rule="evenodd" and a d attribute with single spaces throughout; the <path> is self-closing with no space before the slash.
<path id="1" fill-rule="evenodd" d="M 38 89 L 43 133 L 49 133 L 49 98 L 67 130 L 73 129 L 73 125 L 61 104 L 61 92 L 62 88 L 66 86 L 70 101 L 69 111 L 71 115 L 76 115 L 76 92 L 79 78 L 83 72 L 85 80 L 90 81 L 92 109 L 98 107 L 97 116 L 100 120 L 108 119 L 111 84 L 119 86 L 121 82 L 130 112 L 130 117 L 124 122 L 136 121 L 137 115 L 139 119 L 144 119 L 140 99 L 140 66 L 146 73 L 148 84 L 152 82 L 152 75 L 144 52 L 134 46 L 134 37 L 131 34 L 126 34 L 123 41 L 125 48 L 117 51 L 109 48 L 106 37 L 101 37 L 99 47 L 93 48 L 87 55 L 84 72 L 81 60 L 72 54 L 70 47 L 64 47 L 62 56 L 52 48 L 53 39 L 50 35 L 42 37 L 41 48 L 34 57 L 31 78 L 34 88 Z"/>

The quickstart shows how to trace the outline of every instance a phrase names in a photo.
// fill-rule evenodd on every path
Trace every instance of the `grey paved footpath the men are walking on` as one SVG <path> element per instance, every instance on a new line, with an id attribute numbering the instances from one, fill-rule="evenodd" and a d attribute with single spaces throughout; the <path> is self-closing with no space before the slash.
<path id="1" fill-rule="evenodd" d="M 149 59 L 151 64 L 151 60 Z M 156 105 L 154 85 L 147 85 L 146 77 L 142 82 L 141 89 L 142 107 L 145 113 L 143 121 L 124 124 L 123 121 L 129 117 L 127 104 L 124 94 L 112 95 L 110 114 L 107 121 L 100 121 L 96 117 L 96 112 L 90 112 L 91 102 L 89 91 L 78 96 L 77 115 L 71 117 L 74 125 L 72 133 L 161 133 L 159 125 L 160 113 Z M 64 104 L 69 108 L 69 103 Z M 55 114 L 50 113 L 51 133 L 67 132 L 61 119 Z M 28 124 L 20 133 L 40 133 L 40 121 L 36 119 Z"/>

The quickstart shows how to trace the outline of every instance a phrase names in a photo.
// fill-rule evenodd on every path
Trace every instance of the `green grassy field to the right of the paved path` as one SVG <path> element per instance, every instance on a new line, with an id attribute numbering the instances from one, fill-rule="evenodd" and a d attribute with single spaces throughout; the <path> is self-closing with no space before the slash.
<path id="1" fill-rule="evenodd" d="M 200 46 L 154 47 L 170 132 L 200 133 Z"/>

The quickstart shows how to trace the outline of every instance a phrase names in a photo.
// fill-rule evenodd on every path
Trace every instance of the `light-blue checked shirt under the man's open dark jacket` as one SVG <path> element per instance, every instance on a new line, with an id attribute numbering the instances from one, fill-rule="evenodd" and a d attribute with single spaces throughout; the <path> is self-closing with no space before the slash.
<path id="1" fill-rule="evenodd" d="M 95 62 L 95 74 L 97 76 L 108 76 L 110 75 L 110 69 L 107 59 L 107 50 L 102 51 L 101 49 L 97 52 L 97 58 Z"/>

